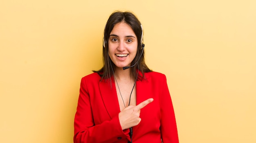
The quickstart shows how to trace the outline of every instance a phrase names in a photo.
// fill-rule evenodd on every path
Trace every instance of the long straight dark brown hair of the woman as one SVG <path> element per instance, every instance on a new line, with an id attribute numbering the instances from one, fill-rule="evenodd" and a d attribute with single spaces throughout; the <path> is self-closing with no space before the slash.
<path id="1" fill-rule="evenodd" d="M 142 80 L 144 78 L 144 73 L 151 71 L 145 63 L 145 58 L 144 58 L 145 53 L 144 53 L 144 50 L 142 50 L 143 29 L 141 26 L 141 22 L 139 22 L 138 18 L 134 14 L 128 11 L 126 12 L 116 11 L 112 13 L 108 18 L 108 21 L 104 29 L 104 38 L 103 38 L 103 48 L 102 48 L 103 67 L 100 70 L 93 71 L 93 72 L 97 72 L 101 76 L 101 80 L 109 79 L 111 81 L 110 77 L 113 75 L 112 67 L 115 67 L 115 64 L 112 62 L 112 60 L 108 55 L 108 39 L 110 37 L 110 32 L 112 31 L 114 26 L 120 22 L 125 22 L 126 24 L 128 24 L 134 31 L 135 35 L 137 36 L 137 42 L 138 42 L 137 54 L 135 58 L 132 60 L 131 65 L 134 65 L 137 61 L 138 63 L 134 67 L 130 67 L 131 68 L 130 76 L 134 78 L 134 80 L 136 80 L 137 72 L 141 71 L 142 75 L 139 75 L 138 79 Z M 141 52 L 142 52 L 142 55 L 139 58 Z M 113 70 L 115 70 L 115 68 Z"/>

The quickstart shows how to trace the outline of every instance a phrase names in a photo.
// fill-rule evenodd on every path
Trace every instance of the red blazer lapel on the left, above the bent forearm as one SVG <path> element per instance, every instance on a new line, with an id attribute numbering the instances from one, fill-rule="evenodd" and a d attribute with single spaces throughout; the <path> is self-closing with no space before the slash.
<path id="1" fill-rule="evenodd" d="M 111 79 L 111 85 L 108 80 L 102 80 L 99 82 L 99 90 L 101 93 L 101 98 L 103 103 L 106 107 L 108 115 L 112 119 L 113 117 L 117 116 L 120 112 L 118 98 L 117 98 L 117 91 L 115 88 L 115 80 Z"/>

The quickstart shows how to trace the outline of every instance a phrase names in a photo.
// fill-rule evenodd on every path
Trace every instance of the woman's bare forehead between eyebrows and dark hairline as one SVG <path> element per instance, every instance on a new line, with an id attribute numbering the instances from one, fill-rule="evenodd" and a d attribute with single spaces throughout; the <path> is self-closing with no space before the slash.
<path id="1" fill-rule="evenodd" d="M 115 34 L 117 36 L 134 36 L 136 37 L 134 31 L 132 30 L 132 27 L 130 27 L 130 25 L 128 25 L 127 23 L 125 22 L 119 22 L 117 23 L 112 31 L 110 32 L 110 35 L 111 34 Z"/>

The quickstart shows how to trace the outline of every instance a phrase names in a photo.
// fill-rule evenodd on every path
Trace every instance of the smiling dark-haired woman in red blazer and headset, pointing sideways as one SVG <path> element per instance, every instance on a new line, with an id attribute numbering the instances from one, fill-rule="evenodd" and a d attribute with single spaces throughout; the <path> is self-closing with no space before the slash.
<path id="1" fill-rule="evenodd" d="M 143 29 L 114 12 L 104 30 L 103 67 L 81 80 L 74 143 L 178 143 L 166 77 L 144 61 Z"/>

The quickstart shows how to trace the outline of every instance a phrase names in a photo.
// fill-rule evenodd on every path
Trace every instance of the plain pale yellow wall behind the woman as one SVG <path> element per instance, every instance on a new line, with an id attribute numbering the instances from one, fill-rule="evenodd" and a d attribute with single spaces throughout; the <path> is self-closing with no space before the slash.
<path id="1" fill-rule="evenodd" d="M 256 143 L 255 0 L 2 0 L 0 142 L 72 143 L 80 80 L 114 10 L 144 27 L 180 143 Z"/>

